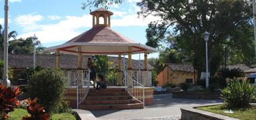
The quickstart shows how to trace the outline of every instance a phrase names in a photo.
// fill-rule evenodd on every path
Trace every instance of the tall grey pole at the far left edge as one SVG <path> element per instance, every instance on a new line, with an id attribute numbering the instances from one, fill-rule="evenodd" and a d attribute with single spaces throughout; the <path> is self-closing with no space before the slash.
<path id="1" fill-rule="evenodd" d="M 3 85 L 7 86 L 8 80 L 8 0 L 5 0 L 5 33 L 4 33 L 4 69 L 3 69 Z"/>

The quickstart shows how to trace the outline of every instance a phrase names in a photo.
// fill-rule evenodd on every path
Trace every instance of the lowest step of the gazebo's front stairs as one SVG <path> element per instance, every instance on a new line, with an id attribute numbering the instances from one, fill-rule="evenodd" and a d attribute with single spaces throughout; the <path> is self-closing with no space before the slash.
<path id="1" fill-rule="evenodd" d="M 131 104 L 109 104 L 109 105 L 80 105 L 79 109 L 86 110 L 107 110 L 107 109 L 143 109 L 142 103 L 131 103 Z"/>

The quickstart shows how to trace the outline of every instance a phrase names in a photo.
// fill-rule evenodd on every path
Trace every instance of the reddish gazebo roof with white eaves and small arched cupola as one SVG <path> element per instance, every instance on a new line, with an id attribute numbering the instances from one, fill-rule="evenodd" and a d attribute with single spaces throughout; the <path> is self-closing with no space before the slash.
<path id="1" fill-rule="evenodd" d="M 92 15 L 92 29 L 74 37 L 62 45 L 48 47 L 46 51 L 68 54 L 117 55 L 128 53 L 151 53 L 156 49 L 148 47 L 113 31 L 111 27 L 111 11 L 104 8 L 90 12 Z M 103 23 L 100 18 L 103 17 Z M 79 51 L 78 51 L 79 47 Z"/>

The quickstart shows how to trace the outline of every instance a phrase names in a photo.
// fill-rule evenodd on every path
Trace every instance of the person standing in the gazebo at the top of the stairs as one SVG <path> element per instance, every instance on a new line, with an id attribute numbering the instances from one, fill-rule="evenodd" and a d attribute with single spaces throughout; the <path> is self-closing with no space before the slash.
<path id="1" fill-rule="evenodd" d="M 90 81 L 93 81 L 93 88 L 95 88 L 95 84 L 97 83 L 96 82 L 96 69 L 95 69 L 95 65 L 92 61 L 92 58 L 88 58 L 88 61 L 87 61 L 87 67 L 88 69 L 90 69 Z"/>

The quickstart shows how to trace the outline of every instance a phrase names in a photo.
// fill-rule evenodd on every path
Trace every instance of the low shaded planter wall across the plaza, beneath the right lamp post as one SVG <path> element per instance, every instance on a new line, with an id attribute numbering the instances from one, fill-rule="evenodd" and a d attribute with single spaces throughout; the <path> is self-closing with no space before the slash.
<path id="1" fill-rule="evenodd" d="M 220 93 L 174 92 L 172 97 L 183 99 L 220 99 Z"/>

